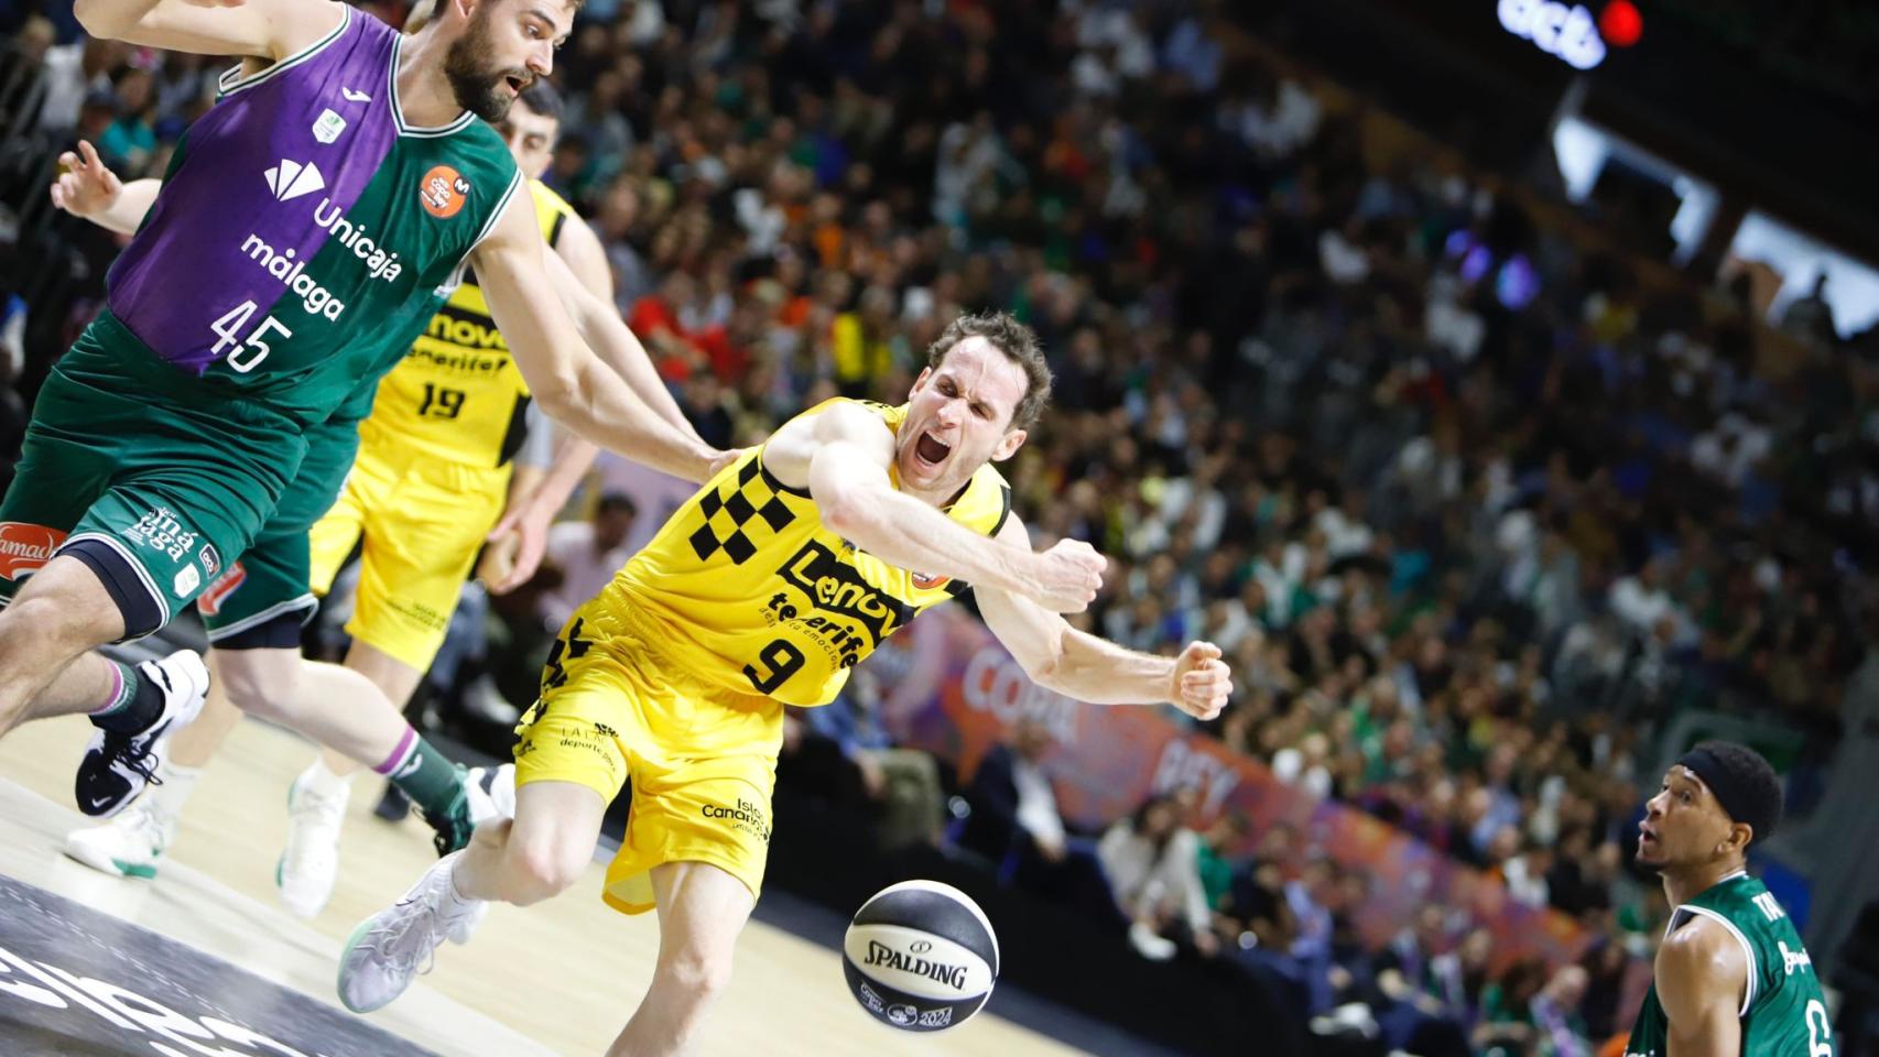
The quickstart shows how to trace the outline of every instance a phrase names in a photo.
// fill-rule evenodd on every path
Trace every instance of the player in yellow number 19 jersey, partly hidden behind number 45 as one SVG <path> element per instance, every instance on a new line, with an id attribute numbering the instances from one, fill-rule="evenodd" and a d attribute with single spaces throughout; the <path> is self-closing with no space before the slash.
<path id="1" fill-rule="evenodd" d="M 500 131 L 524 173 L 547 169 L 560 126 L 560 100 L 552 86 L 536 83 L 509 109 Z M 109 173 L 100 178 L 109 182 Z M 71 186 L 68 184 L 68 190 Z M 118 191 L 120 201 L 90 205 L 88 214 L 107 227 L 135 229 L 154 199 L 156 180 Z M 534 212 L 543 238 L 567 263 L 575 278 L 607 306 L 613 282 L 599 238 L 573 208 L 539 180 L 530 182 Z M 139 207 L 141 203 L 141 207 Z M 629 375 L 637 392 L 676 428 L 691 434 L 676 402 L 658 381 L 650 360 L 611 357 Z M 631 377 L 639 374 L 641 377 Z M 515 467 L 511 456 L 522 437 L 528 387 L 502 334 L 489 317 L 483 291 L 462 283 L 432 319 L 406 359 L 378 387 L 370 417 L 359 422 L 359 452 L 344 473 L 331 511 L 306 533 L 310 567 L 269 561 L 256 554 L 229 567 L 224 582 L 205 593 L 212 657 L 252 655 L 272 648 L 299 653 L 299 625 L 312 612 L 314 593 L 325 593 L 338 567 L 365 537 L 355 616 L 348 623 L 353 646 L 346 666 L 376 683 L 393 712 L 417 689 L 423 672 L 443 642 L 443 633 L 464 576 L 475 561 L 485 533 L 511 499 L 522 499 L 541 481 L 536 467 Z M 558 479 L 577 477 L 594 458 L 594 445 L 566 439 L 558 452 Z M 331 492 L 325 498 L 331 499 Z M 319 507 L 308 513 L 318 516 Z M 517 541 L 509 541 L 515 544 Z M 259 550 L 259 548 L 257 548 Z M 310 552 L 310 554 L 308 554 Z M 492 546 L 490 556 L 500 548 Z M 539 554 L 539 548 L 536 548 Z M 490 569 L 485 578 L 524 569 Z M 269 627 L 278 625 L 276 633 Z M 105 826 L 68 835 L 68 854 L 107 873 L 154 877 L 158 860 L 175 835 L 194 779 L 242 712 L 263 712 L 254 698 L 278 697 L 280 687 L 242 678 L 241 668 L 218 665 L 225 676 L 209 695 L 197 723 L 169 745 L 163 779 L 150 796 Z M 329 687 L 336 689 L 336 687 Z M 396 738 L 395 738 L 396 742 Z M 427 751 L 421 740 L 393 751 Z M 393 764 L 402 760 L 391 760 Z M 432 760 L 434 764 L 438 760 Z M 325 749 L 289 792 L 287 847 L 276 882 L 282 901 L 297 914 L 316 916 L 333 894 L 338 869 L 338 837 L 349 794 L 351 757 Z M 443 768 L 447 774 L 447 766 Z M 498 798 L 505 800 L 505 798 Z M 504 804 L 498 804 L 502 807 Z"/>

